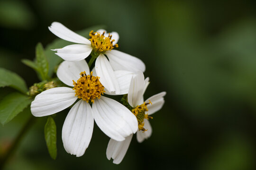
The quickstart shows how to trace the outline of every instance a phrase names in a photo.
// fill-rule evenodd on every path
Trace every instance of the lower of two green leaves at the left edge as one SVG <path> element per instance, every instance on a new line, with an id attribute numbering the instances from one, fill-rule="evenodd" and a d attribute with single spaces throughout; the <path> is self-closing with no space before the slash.
<path id="1" fill-rule="evenodd" d="M 0 101 L 0 122 L 2 125 L 8 123 L 11 119 L 24 110 L 32 100 L 27 95 L 14 92 L 5 96 Z"/>

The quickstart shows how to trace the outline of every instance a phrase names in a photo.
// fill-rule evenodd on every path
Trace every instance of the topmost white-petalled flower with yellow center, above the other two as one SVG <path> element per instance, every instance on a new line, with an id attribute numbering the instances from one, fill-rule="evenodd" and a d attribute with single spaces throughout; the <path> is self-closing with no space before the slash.
<path id="1" fill-rule="evenodd" d="M 138 58 L 133 57 L 121 51 L 113 50 L 118 47 L 119 34 L 116 32 L 107 33 L 101 29 L 96 32 L 90 32 L 90 39 L 74 33 L 64 25 L 53 22 L 49 30 L 69 42 L 78 44 L 68 45 L 61 49 L 55 49 L 58 56 L 67 61 L 79 61 L 87 58 L 90 54 L 95 61 L 95 69 L 101 82 L 110 82 L 105 86 L 110 92 L 120 93 L 120 87 L 113 71 L 127 70 L 132 72 L 145 71 L 145 64 Z M 105 57 L 108 57 L 108 59 Z"/>

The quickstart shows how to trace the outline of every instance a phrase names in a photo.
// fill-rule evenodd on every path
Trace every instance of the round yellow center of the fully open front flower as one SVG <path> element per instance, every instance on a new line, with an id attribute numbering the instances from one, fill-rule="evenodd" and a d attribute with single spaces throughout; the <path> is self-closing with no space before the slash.
<path id="1" fill-rule="evenodd" d="M 75 95 L 86 102 L 94 102 L 94 99 L 101 98 L 101 94 L 103 94 L 104 86 L 101 85 L 98 76 L 86 75 L 85 71 L 80 73 L 80 78 L 75 82 L 73 80 Z"/>

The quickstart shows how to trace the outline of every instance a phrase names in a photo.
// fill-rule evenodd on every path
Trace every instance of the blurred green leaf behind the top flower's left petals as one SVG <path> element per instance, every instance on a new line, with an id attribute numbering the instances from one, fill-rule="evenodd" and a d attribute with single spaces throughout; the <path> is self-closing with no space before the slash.
<path id="1" fill-rule="evenodd" d="M 92 26 L 92 27 L 89 27 L 82 31 L 78 31 L 77 34 L 80 34 L 80 35 L 84 36 L 85 38 L 89 38 L 89 33 L 91 30 L 97 31 L 99 29 L 105 29 L 105 28 L 106 28 L 106 26 Z M 51 51 L 51 50 L 63 48 L 65 46 L 71 45 L 71 44 L 75 44 L 75 43 L 68 42 L 68 41 L 62 40 L 60 38 L 57 38 L 57 39 L 55 39 L 55 41 L 53 41 L 52 43 L 50 43 L 46 46 L 45 52 L 46 52 L 46 58 L 49 61 L 49 72 L 48 72 L 49 77 L 51 77 L 53 75 L 55 67 L 57 67 L 61 61 L 63 61 L 62 58 L 57 56 L 55 54 L 55 52 Z"/>

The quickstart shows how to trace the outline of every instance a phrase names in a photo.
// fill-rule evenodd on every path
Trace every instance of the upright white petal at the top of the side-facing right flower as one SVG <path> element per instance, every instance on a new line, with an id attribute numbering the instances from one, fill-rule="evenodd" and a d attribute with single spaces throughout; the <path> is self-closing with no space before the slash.
<path id="1" fill-rule="evenodd" d="M 141 98 L 143 97 L 144 90 L 144 75 L 141 71 L 132 78 L 128 92 L 128 103 L 132 107 L 142 104 Z"/>

